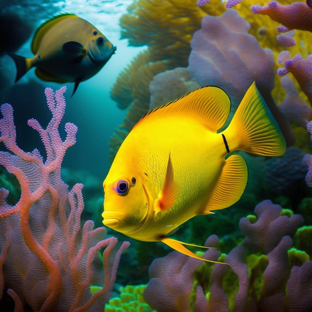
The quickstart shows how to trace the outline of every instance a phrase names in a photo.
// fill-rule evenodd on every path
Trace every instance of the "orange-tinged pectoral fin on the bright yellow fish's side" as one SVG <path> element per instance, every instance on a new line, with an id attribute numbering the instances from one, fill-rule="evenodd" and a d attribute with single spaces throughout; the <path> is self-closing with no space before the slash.
<path id="1" fill-rule="evenodd" d="M 155 213 L 165 211 L 172 207 L 179 195 L 179 185 L 174 181 L 173 165 L 169 153 L 167 169 L 164 177 L 162 190 L 155 201 Z"/>

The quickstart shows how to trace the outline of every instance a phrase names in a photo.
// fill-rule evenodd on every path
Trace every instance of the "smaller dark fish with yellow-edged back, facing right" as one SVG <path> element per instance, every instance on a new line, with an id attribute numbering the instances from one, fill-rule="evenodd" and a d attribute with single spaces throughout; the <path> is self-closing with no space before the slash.
<path id="1" fill-rule="evenodd" d="M 30 68 L 44 81 L 81 81 L 98 73 L 116 47 L 93 25 L 74 14 L 58 15 L 43 23 L 31 43 L 33 58 L 10 54 L 19 80 Z M 73 95 L 72 94 L 72 95 Z"/>

